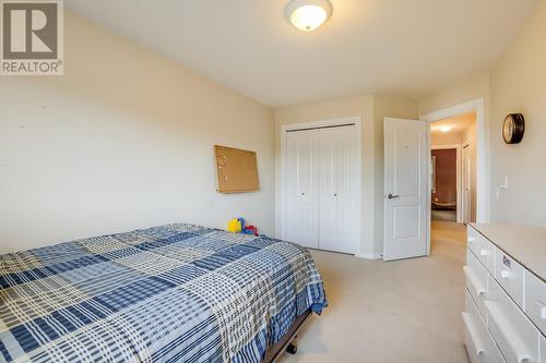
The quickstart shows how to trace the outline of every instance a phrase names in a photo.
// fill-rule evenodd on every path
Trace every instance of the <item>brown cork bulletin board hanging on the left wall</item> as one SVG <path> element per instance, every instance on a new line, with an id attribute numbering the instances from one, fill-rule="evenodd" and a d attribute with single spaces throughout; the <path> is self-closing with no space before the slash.
<path id="1" fill-rule="evenodd" d="M 260 189 L 256 152 L 214 145 L 217 191 L 242 193 Z"/>

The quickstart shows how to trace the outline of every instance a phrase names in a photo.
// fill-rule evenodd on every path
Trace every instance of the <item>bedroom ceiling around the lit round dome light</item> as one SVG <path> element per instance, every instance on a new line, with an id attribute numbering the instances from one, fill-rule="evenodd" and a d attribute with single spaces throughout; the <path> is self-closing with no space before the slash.
<path id="1" fill-rule="evenodd" d="M 331 0 L 304 33 L 286 0 L 66 0 L 76 13 L 272 107 L 417 98 L 499 59 L 539 0 Z"/>

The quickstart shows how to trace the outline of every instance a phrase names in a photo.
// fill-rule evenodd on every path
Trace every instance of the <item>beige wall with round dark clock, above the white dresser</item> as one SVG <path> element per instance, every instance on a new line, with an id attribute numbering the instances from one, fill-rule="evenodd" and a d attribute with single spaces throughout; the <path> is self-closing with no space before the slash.
<path id="1" fill-rule="evenodd" d="M 491 71 L 491 217 L 496 221 L 546 227 L 546 2 Z M 525 117 L 525 136 L 506 145 L 508 113 Z M 508 190 L 497 186 L 508 178 Z"/>

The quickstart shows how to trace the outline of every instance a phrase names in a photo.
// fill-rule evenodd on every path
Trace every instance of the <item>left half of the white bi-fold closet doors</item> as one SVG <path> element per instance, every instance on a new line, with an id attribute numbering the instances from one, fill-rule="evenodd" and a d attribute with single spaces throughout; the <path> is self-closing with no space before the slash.
<path id="1" fill-rule="evenodd" d="M 286 239 L 319 247 L 318 130 L 286 135 Z"/>

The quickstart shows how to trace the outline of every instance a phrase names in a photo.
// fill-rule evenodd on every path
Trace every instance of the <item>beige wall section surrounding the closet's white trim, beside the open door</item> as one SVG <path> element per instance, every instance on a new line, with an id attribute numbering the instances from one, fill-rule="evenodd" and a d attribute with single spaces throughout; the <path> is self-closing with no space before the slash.
<path id="1" fill-rule="evenodd" d="M 416 118 L 417 104 L 388 96 L 363 95 L 275 110 L 275 174 L 277 209 L 280 198 L 281 125 L 345 117 L 361 118 L 361 223 L 359 255 L 372 257 L 382 253 L 383 226 L 383 118 Z M 280 220 L 280 218 L 277 218 Z M 280 226 L 277 225 L 277 233 Z"/>

